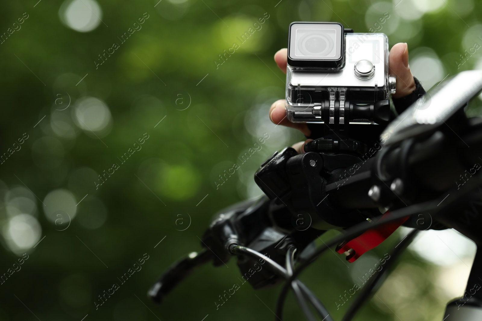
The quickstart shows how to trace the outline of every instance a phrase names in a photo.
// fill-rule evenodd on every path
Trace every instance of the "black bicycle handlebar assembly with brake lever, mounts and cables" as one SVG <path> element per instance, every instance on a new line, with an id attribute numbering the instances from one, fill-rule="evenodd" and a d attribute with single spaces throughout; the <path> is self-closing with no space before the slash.
<path id="1" fill-rule="evenodd" d="M 341 241 L 402 217 L 430 211 L 442 229 L 453 227 L 477 244 L 482 244 L 479 228 L 482 217 L 468 217 L 467 213 L 454 215 L 455 208 L 471 206 L 471 202 L 480 200 L 482 196 L 481 189 L 475 190 L 482 184 L 481 174 L 474 174 L 463 184 L 455 182 L 454 187 L 454 181 L 464 174 L 464 170 L 466 172 L 468 166 L 478 162 L 477 159 L 482 160 L 478 154 L 482 151 L 482 119 L 467 119 L 461 109 L 482 89 L 482 72 L 463 72 L 460 75 L 455 82 L 452 80 L 448 86 L 430 96 L 435 106 L 444 103 L 447 93 L 454 95 L 442 106 L 443 113 L 437 115 L 440 120 L 424 123 L 430 116 L 430 108 L 426 112 L 417 111 L 414 110 L 417 106 L 412 105 L 388 126 L 385 134 L 392 137 L 385 136 L 386 144 L 382 143 L 382 148 L 366 159 L 358 157 L 361 161 L 357 160 L 356 153 L 325 153 L 321 149 L 299 155 L 291 148 L 275 153 L 255 175 L 256 183 L 271 200 L 265 196 L 255 202 L 228 208 L 216 216 L 202 237 L 205 249 L 199 255 L 191 254 L 171 266 L 148 295 L 155 302 L 161 302 L 162 297 L 187 277 L 193 268 L 210 260 L 219 266 L 236 254 L 242 272 L 250 268 L 258 254 L 263 257 L 262 253 L 266 253 L 270 257 L 266 261 L 271 270 L 262 270 L 248 281 L 254 289 L 286 281 L 277 311 L 281 311 L 284 297 L 291 287 L 305 314 L 313 320 L 306 311 L 305 298 L 320 315 L 328 316 L 328 312 L 321 303 L 318 305 L 313 300 L 309 290 L 296 277 L 328 247 Z M 467 88 L 460 83 L 464 77 L 471 79 Z M 454 89 L 459 92 L 453 92 Z M 333 146 L 341 144 L 333 137 L 325 141 Z M 347 139 L 340 141 L 349 142 Z M 362 145 L 353 144 L 355 147 Z M 317 148 L 315 141 L 310 146 Z M 347 147 L 350 148 L 349 145 Z M 360 150 L 363 148 L 358 148 L 357 153 Z M 348 177 L 343 176 L 347 171 Z M 463 185 L 462 188 L 460 185 Z M 379 207 L 389 207 L 390 211 L 394 211 L 385 221 L 376 221 L 380 217 Z M 308 214 L 307 228 L 298 224 L 301 215 L 298 213 L 301 212 Z M 367 217 L 375 222 L 367 223 Z M 410 221 L 407 222 L 410 226 Z M 347 228 L 347 233 L 327 242 L 326 247 L 314 249 L 312 241 L 324 230 L 333 228 Z M 435 226 L 431 225 L 431 228 Z M 291 273 L 291 266 L 286 265 L 284 269 L 282 265 L 293 254 L 293 245 L 300 253 L 298 262 L 301 264 Z M 281 313 L 278 317 L 281 318 Z"/>

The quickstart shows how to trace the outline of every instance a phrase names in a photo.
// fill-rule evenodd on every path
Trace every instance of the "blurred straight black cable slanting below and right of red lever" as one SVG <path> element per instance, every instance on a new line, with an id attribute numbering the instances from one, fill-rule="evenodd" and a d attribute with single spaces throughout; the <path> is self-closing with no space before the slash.
<path id="1" fill-rule="evenodd" d="M 374 289 L 377 288 L 379 285 L 381 285 L 382 282 L 379 282 L 379 281 L 382 279 L 384 275 L 387 274 L 388 270 L 390 270 L 390 268 L 395 264 L 395 261 L 397 260 L 397 258 L 400 257 L 402 252 L 413 241 L 413 239 L 418 234 L 418 232 L 419 232 L 418 230 L 411 231 L 407 236 L 405 236 L 402 242 L 400 242 L 397 246 L 395 246 L 395 250 L 390 255 L 390 260 L 387 261 L 387 264 L 384 267 L 385 270 L 383 270 L 382 272 L 378 272 L 375 278 L 370 280 L 370 282 L 362 288 L 362 291 L 360 291 L 360 293 L 356 297 L 355 302 L 353 302 L 353 304 L 348 308 L 348 311 L 343 316 L 342 321 L 350 321 L 351 319 L 353 319 L 355 314 L 362 307 L 363 303 L 365 303 L 365 301 L 367 301 L 375 293 Z"/>

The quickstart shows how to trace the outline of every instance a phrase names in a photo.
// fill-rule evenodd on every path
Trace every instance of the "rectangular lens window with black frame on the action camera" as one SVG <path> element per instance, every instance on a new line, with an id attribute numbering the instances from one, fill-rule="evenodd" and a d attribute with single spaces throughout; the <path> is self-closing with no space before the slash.
<path id="1" fill-rule="evenodd" d="M 290 58 L 338 60 L 341 57 L 342 27 L 339 24 L 295 23 L 290 30 Z"/>

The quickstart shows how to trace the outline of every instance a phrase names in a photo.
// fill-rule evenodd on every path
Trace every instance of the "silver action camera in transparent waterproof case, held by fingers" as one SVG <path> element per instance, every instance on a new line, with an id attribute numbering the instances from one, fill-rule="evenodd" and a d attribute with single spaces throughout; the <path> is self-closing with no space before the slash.
<path id="1" fill-rule="evenodd" d="M 384 123 L 377 110 L 389 110 L 396 80 L 388 75 L 388 52 L 383 33 L 353 33 L 330 22 L 292 23 L 287 118 L 295 123 Z"/>

